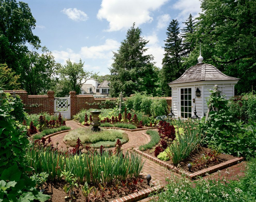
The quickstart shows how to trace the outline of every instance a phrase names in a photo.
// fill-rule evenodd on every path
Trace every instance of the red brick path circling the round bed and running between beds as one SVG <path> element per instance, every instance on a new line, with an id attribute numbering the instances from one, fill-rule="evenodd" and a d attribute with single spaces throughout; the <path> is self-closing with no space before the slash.
<path id="1" fill-rule="evenodd" d="M 72 120 L 71 121 L 66 121 L 66 125 L 70 126 L 71 129 L 76 129 L 76 128 L 81 127 L 77 124 L 77 122 L 72 121 Z M 127 133 L 128 136 L 129 136 L 129 142 L 123 144 L 122 148 L 124 150 L 130 149 L 130 148 L 138 148 L 140 145 L 146 144 L 147 142 L 149 142 L 150 138 L 142 135 L 142 133 L 144 133 L 144 132 L 145 131 L 135 131 L 135 132 L 125 131 L 125 133 Z M 65 150 L 66 145 L 63 142 L 63 138 L 67 133 L 68 132 L 61 133 L 61 134 L 58 134 L 56 136 L 52 136 L 51 137 L 52 142 L 54 144 L 56 144 L 56 142 L 58 141 L 59 142 L 58 147 L 62 146 L 63 149 Z M 165 181 L 165 178 L 168 176 L 168 173 L 170 174 L 170 171 L 166 172 L 166 170 L 163 166 L 160 166 L 159 164 L 157 164 L 153 161 L 150 161 L 147 158 L 143 158 L 143 161 L 145 161 L 144 166 L 143 166 L 143 170 L 142 170 L 143 173 L 145 175 L 150 174 L 152 176 L 152 180 L 155 180 L 156 182 L 161 181 L 163 185 L 166 185 L 167 182 Z M 237 179 L 239 176 L 244 175 L 244 173 L 242 172 L 244 169 L 245 169 L 245 163 L 244 162 L 233 165 L 233 166 L 230 166 L 229 171 L 228 171 L 229 172 L 228 176 L 227 176 L 227 173 L 226 173 L 226 169 L 221 170 L 220 179 L 222 179 L 223 176 L 225 176 L 225 179 L 226 179 L 226 176 L 227 176 L 227 180 Z M 180 176 L 177 173 L 174 173 L 174 175 Z M 208 179 L 209 177 L 211 179 L 213 179 L 213 178 L 218 179 L 219 175 L 218 175 L 217 172 L 215 172 L 215 173 L 210 174 L 209 176 L 204 176 L 203 179 Z M 139 200 L 138 202 L 146 202 L 146 201 L 149 201 L 149 200 L 150 200 L 150 198 L 145 198 L 145 199 Z"/>

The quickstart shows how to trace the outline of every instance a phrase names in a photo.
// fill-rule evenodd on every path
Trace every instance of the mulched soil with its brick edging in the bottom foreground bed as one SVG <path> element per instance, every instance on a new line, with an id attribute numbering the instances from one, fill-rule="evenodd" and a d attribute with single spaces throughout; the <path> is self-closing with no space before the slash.
<path id="1" fill-rule="evenodd" d="M 90 200 L 90 201 L 95 201 L 95 202 L 103 202 L 103 201 L 120 201 L 120 198 L 122 198 L 123 201 L 133 201 L 133 200 L 138 200 L 144 197 L 147 197 L 149 195 L 149 193 L 151 193 L 153 190 L 155 190 L 155 188 L 150 188 L 150 186 L 147 185 L 147 180 L 145 179 L 145 175 L 142 175 L 141 178 L 143 179 L 143 181 L 140 183 L 138 182 L 136 188 L 134 188 L 134 185 L 132 183 L 132 185 L 128 188 L 126 187 L 125 189 L 123 189 L 123 187 L 121 186 L 121 188 L 119 189 L 119 193 L 117 192 L 117 190 L 114 188 L 112 190 L 112 194 L 110 195 L 109 193 L 109 189 L 111 187 L 115 187 L 115 182 L 109 183 L 107 184 L 107 188 L 106 188 L 106 193 L 105 196 L 102 197 L 100 195 L 100 192 L 98 191 L 96 194 L 96 199 L 94 199 L 94 197 Z M 156 182 L 151 180 L 150 184 L 155 184 Z M 62 180 L 61 182 L 53 182 L 53 183 L 49 183 L 48 186 L 44 185 L 44 194 L 50 195 L 51 198 L 48 201 L 52 201 L 52 202 L 65 202 L 65 201 L 69 201 L 71 200 L 71 197 L 69 195 L 69 197 L 65 198 L 65 196 L 67 196 L 67 194 L 65 193 L 65 191 L 63 190 L 63 186 L 65 185 L 65 181 Z M 94 186 L 96 189 L 100 189 L 99 185 L 91 185 Z M 80 188 L 74 188 L 74 192 L 75 192 L 75 199 L 73 199 L 73 201 L 85 201 L 85 197 L 82 195 L 81 189 Z M 127 200 L 126 200 L 127 199 Z M 121 200 L 121 201 L 122 201 Z"/>

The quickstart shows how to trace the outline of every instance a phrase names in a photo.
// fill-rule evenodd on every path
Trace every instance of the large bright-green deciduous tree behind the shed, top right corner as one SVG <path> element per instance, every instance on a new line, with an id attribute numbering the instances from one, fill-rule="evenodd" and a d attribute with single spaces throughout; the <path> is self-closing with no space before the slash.
<path id="1" fill-rule="evenodd" d="M 183 66 L 195 64 L 201 43 L 204 62 L 223 73 L 240 78 L 237 94 L 256 86 L 256 4 L 250 0 L 203 0 L 195 31 L 187 36 L 196 41 Z"/>

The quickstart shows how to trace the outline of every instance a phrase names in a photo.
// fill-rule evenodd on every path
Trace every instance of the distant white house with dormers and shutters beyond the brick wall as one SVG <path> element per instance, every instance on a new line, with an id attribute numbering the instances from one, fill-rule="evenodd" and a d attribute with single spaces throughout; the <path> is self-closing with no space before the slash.
<path id="1" fill-rule="evenodd" d="M 109 81 L 104 80 L 102 83 L 95 81 L 93 84 L 83 84 L 81 86 L 81 95 L 93 95 L 94 97 L 110 97 Z"/>

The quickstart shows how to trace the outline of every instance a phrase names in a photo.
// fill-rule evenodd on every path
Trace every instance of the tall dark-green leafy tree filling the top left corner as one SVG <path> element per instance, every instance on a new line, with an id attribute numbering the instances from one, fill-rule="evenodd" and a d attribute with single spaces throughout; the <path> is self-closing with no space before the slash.
<path id="1" fill-rule="evenodd" d="M 38 47 L 40 40 L 32 30 L 36 20 L 27 3 L 0 0 L 0 63 L 20 74 L 20 60 L 26 55 L 26 43 Z"/>

